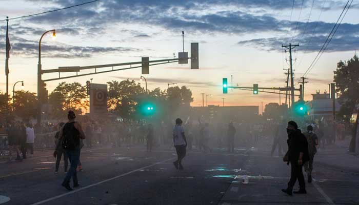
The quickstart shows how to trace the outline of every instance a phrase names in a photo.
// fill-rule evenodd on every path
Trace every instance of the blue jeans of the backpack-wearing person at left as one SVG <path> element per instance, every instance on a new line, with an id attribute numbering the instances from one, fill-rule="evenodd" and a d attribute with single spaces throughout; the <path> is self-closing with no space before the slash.
<path id="1" fill-rule="evenodd" d="M 74 150 L 66 150 L 66 154 L 70 160 L 70 169 L 67 172 L 63 183 L 70 183 L 72 177 L 73 183 L 76 185 L 78 183 L 76 168 L 80 159 L 80 148 L 76 147 Z"/>

